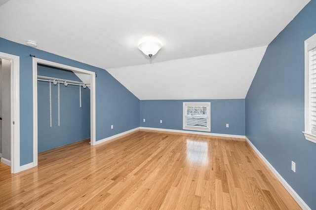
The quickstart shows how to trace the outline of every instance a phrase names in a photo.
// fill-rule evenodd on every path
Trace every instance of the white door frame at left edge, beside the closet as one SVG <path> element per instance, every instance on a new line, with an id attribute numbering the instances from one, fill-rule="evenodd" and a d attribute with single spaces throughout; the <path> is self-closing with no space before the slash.
<path id="1" fill-rule="evenodd" d="M 15 174 L 20 172 L 20 57 L 0 52 L 0 58 L 11 61 L 11 173 Z"/>

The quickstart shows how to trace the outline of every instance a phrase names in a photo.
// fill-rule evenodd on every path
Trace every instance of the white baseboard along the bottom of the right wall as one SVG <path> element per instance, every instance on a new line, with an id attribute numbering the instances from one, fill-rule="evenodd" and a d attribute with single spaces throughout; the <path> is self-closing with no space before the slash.
<path id="1" fill-rule="evenodd" d="M 294 191 L 294 189 L 285 181 L 285 179 L 276 171 L 276 169 L 269 163 L 269 161 L 261 154 L 261 152 L 251 143 L 251 141 L 245 137 L 245 140 L 249 143 L 252 149 L 258 154 L 261 160 L 268 166 L 276 178 L 281 182 L 285 189 L 290 193 L 294 200 L 300 205 L 303 210 L 311 210 L 311 208 L 303 201 L 303 199 Z"/>

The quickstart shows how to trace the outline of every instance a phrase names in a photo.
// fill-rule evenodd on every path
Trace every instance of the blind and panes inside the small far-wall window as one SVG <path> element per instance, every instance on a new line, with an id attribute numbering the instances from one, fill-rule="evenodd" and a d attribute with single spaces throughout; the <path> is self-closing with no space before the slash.
<path id="1" fill-rule="evenodd" d="M 207 128 L 207 106 L 186 106 L 186 126 Z"/>

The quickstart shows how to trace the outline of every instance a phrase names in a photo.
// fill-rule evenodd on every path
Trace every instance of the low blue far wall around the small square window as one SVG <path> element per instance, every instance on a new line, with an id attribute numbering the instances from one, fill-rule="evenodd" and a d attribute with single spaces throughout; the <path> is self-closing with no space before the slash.
<path id="1" fill-rule="evenodd" d="M 245 135 L 244 99 L 140 101 L 140 126 L 183 130 L 183 102 L 211 103 L 210 133 Z M 143 122 L 144 118 L 146 122 Z M 229 128 L 226 128 L 226 123 L 229 123 Z"/>

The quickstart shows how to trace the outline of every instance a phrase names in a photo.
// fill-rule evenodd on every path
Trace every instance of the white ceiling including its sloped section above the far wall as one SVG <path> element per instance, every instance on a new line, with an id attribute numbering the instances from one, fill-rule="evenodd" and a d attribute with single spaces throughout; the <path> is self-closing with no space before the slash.
<path id="1" fill-rule="evenodd" d="M 308 2 L 0 0 L 0 36 L 106 69 L 139 99 L 244 98 L 263 49 Z M 151 60 L 145 35 L 162 42 Z M 189 80 L 203 91 L 184 91 Z"/>

